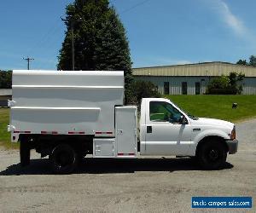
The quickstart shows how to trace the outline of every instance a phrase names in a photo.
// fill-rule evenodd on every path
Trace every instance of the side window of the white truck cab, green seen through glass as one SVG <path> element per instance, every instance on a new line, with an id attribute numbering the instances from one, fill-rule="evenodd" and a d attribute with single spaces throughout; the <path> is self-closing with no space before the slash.
<path id="1" fill-rule="evenodd" d="M 149 117 L 151 121 L 179 124 L 181 116 L 182 113 L 169 103 L 164 101 L 150 101 L 149 103 Z"/>

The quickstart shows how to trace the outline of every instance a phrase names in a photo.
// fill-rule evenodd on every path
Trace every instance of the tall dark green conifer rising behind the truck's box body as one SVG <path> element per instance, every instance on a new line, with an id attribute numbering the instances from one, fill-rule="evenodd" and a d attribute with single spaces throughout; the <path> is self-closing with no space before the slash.
<path id="1" fill-rule="evenodd" d="M 75 70 L 125 72 L 125 102 L 131 99 L 131 56 L 125 28 L 108 0 L 75 0 L 67 5 L 66 37 L 58 56 L 59 70 L 72 69 L 72 26 Z"/>

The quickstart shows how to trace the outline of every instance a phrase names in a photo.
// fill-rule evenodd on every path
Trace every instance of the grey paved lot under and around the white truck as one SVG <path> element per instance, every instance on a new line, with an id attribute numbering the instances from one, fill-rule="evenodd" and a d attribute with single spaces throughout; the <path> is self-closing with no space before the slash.
<path id="1" fill-rule="evenodd" d="M 192 196 L 251 196 L 256 212 L 256 119 L 237 124 L 237 138 L 239 152 L 217 171 L 187 158 L 85 158 L 77 174 L 54 176 L 47 159 L 33 153 L 20 169 L 19 153 L 2 150 L 0 211 L 191 212 Z"/>

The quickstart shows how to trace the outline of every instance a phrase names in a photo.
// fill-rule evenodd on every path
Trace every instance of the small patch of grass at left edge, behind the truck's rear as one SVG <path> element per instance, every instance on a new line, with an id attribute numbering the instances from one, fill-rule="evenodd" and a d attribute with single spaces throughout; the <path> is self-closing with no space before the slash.
<path id="1" fill-rule="evenodd" d="M 7 131 L 9 124 L 9 109 L 0 108 L 0 146 L 5 148 L 19 148 L 18 143 L 10 142 L 10 133 Z"/>

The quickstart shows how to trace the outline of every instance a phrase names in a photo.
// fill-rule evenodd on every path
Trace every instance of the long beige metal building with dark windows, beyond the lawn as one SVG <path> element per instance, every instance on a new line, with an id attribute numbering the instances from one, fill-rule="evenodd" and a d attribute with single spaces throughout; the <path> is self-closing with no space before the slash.
<path id="1" fill-rule="evenodd" d="M 175 66 L 133 68 L 137 80 L 150 81 L 165 95 L 199 95 L 206 92 L 207 84 L 214 77 L 228 76 L 230 72 L 245 74 L 243 95 L 256 95 L 256 67 L 227 62 L 204 62 Z"/>

